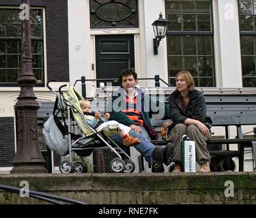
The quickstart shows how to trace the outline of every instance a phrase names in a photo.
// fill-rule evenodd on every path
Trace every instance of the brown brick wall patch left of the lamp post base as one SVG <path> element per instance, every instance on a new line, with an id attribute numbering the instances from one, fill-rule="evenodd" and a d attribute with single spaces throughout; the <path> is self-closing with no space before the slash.
<path id="1" fill-rule="evenodd" d="M 12 166 L 15 154 L 13 117 L 0 117 L 0 133 L 0 167 Z"/>

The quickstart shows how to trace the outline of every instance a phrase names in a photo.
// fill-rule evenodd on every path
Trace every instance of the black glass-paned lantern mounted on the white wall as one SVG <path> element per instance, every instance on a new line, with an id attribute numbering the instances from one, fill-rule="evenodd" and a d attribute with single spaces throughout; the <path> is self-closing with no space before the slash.
<path id="1" fill-rule="evenodd" d="M 167 27 L 169 20 L 162 18 L 162 14 L 159 14 L 159 18 L 152 23 L 155 38 L 153 39 L 154 55 L 158 55 L 158 46 L 160 41 L 165 37 L 167 33 Z"/>

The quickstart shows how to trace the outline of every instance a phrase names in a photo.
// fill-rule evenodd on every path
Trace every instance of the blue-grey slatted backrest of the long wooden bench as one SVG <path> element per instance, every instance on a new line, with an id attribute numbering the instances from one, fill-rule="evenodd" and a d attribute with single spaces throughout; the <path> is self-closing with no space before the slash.
<path id="1" fill-rule="evenodd" d="M 96 91 L 98 97 L 91 102 L 92 108 L 105 112 L 109 95 L 115 89 L 116 87 L 99 88 Z M 173 87 L 143 89 L 167 104 L 169 95 L 175 90 Z M 205 95 L 207 114 L 212 118 L 215 126 L 254 125 L 256 123 L 256 89 L 201 88 L 199 90 Z M 41 102 L 38 118 L 48 117 L 53 112 L 53 105 L 54 102 Z M 152 123 L 154 126 L 162 125 L 160 120 L 152 120 Z"/>

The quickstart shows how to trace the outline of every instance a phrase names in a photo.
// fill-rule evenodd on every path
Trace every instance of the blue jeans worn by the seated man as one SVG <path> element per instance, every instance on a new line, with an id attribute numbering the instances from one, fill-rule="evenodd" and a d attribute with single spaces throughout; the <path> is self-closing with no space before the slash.
<path id="1" fill-rule="evenodd" d="M 129 134 L 130 136 L 134 138 L 139 138 L 141 140 L 141 144 L 137 144 L 134 146 L 134 148 L 145 157 L 145 160 L 149 163 L 153 163 L 152 159 L 152 153 L 155 148 L 154 144 L 150 142 L 150 136 L 148 136 L 147 131 L 144 129 L 144 127 L 138 125 L 141 129 L 141 134 L 139 134 L 137 131 L 130 130 Z M 123 144 L 122 137 L 119 135 L 115 135 L 111 137 L 117 144 Z"/>

